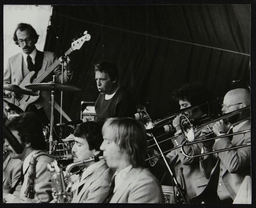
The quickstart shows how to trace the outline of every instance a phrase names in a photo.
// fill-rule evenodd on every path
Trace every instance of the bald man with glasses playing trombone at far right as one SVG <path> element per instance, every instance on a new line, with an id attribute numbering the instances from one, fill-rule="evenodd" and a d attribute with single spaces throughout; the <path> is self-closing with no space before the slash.
<path id="1" fill-rule="evenodd" d="M 243 88 L 231 90 L 225 95 L 222 106 L 224 114 L 250 106 L 250 92 Z M 212 147 L 209 147 L 209 143 L 207 145 L 207 142 L 204 142 L 203 151 L 208 152 L 212 149 L 220 150 L 249 144 L 250 131 L 227 136 L 232 132 L 250 130 L 250 118 L 248 117 L 250 117 L 250 109 L 230 117 L 228 124 L 223 120 L 216 122 L 213 131 L 217 136 L 223 137 L 216 139 Z M 244 177 L 251 175 L 250 146 L 219 152 L 215 155 L 211 154 L 201 157 L 200 160 L 201 170 L 206 177 L 210 177 L 209 183 L 215 184 L 215 188 L 217 188 L 217 201 L 221 204 L 233 203 Z"/>

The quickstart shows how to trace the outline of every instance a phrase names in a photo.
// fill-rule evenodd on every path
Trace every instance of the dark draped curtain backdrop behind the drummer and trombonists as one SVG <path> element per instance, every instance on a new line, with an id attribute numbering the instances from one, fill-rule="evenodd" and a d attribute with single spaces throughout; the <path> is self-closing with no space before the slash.
<path id="1" fill-rule="evenodd" d="M 82 89 L 64 93 L 71 119 L 81 101 L 96 101 L 93 64 L 102 60 L 116 63 L 119 83 L 137 103 L 150 103 L 154 119 L 177 111 L 172 92 L 185 83 L 202 82 L 220 97 L 237 87 L 232 80 L 250 81 L 249 5 L 54 6 L 53 17 L 64 51 L 83 31 L 91 35 L 70 54 L 70 84 Z M 61 55 L 53 31 L 45 51 Z"/>

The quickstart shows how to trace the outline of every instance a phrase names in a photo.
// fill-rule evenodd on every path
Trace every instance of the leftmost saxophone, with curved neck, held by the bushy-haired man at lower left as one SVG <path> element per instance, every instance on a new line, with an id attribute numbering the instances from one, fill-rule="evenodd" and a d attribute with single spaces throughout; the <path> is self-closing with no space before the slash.
<path id="1" fill-rule="evenodd" d="M 28 171 L 28 183 L 27 183 L 27 188 L 25 191 L 25 197 L 29 199 L 34 199 L 35 198 L 35 179 L 36 179 L 36 164 L 37 164 L 37 159 L 41 155 L 46 155 L 51 158 L 63 158 L 63 157 L 56 157 L 51 154 L 48 154 L 46 151 L 40 151 L 32 155 L 32 158 L 29 162 L 29 168 L 30 170 Z"/>

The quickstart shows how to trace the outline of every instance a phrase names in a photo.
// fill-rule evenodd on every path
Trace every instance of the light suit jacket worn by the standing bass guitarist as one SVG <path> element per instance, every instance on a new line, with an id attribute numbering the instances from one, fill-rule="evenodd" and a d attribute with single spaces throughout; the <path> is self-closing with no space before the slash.
<path id="1" fill-rule="evenodd" d="M 42 52 L 37 50 L 37 54 L 35 57 L 35 66 L 38 71 L 37 77 L 42 75 L 44 71 L 47 70 L 52 64 L 57 60 L 57 57 L 52 52 Z M 20 85 L 20 83 L 23 81 L 24 77 L 29 74 L 29 70 L 27 68 L 24 68 L 24 60 L 22 56 L 22 52 L 19 54 L 16 54 L 9 58 L 6 68 L 4 69 L 3 74 L 3 84 L 13 84 L 15 80 L 16 85 Z M 50 82 L 52 81 L 52 75 L 55 75 L 55 82 L 61 83 L 61 66 L 58 65 L 52 73 L 50 73 L 43 82 Z M 34 76 L 33 76 L 34 77 Z M 71 77 L 68 79 L 70 80 Z M 63 76 L 63 83 L 66 83 L 67 81 L 67 71 L 64 70 L 64 76 Z M 37 108 L 41 108 L 42 106 L 45 106 L 47 103 L 49 105 L 49 102 L 51 101 L 51 92 L 41 91 L 40 92 L 40 98 L 35 101 L 35 105 Z M 43 104 L 44 102 L 44 104 Z M 50 106 L 47 106 L 47 108 L 50 109 Z M 49 117 L 49 115 L 47 114 Z"/>

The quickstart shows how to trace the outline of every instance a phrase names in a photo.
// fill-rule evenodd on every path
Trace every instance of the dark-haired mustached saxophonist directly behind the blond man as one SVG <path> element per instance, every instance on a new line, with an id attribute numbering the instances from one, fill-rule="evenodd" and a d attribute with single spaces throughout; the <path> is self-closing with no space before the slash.
<path id="1" fill-rule="evenodd" d="M 76 127 L 72 151 L 74 162 L 90 159 L 100 154 L 103 142 L 101 125 L 93 121 Z M 79 179 L 73 184 L 73 200 L 71 203 L 102 203 L 108 195 L 113 171 L 105 160 L 85 163 Z"/>

